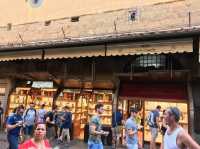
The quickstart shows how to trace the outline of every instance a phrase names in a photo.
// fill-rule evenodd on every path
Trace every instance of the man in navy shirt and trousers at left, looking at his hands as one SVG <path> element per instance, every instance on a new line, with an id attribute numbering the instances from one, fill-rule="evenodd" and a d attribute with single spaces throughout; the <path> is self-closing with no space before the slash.
<path id="1" fill-rule="evenodd" d="M 6 121 L 9 149 L 18 149 L 19 135 L 23 125 L 23 119 L 22 119 L 23 113 L 24 113 L 24 107 L 19 106 L 16 109 L 16 113 L 9 116 Z"/>

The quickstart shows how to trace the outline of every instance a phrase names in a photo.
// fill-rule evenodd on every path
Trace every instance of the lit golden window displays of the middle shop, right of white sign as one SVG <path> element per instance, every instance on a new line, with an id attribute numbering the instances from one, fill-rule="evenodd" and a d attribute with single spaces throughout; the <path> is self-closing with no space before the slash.
<path id="1" fill-rule="evenodd" d="M 97 103 L 104 104 L 102 124 L 111 126 L 112 92 L 68 89 L 64 90 L 56 100 L 56 105 L 60 110 L 65 105 L 70 107 L 74 128 L 76 128 L 73 132 L 74 138 L 84 138 L 84 128 L 91 116 L 95 114 Z"/>

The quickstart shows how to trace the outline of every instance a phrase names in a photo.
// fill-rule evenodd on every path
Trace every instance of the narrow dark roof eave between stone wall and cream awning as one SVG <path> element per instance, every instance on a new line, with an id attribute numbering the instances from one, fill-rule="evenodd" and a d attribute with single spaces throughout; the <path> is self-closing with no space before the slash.
<path id="1" fill-rule="evenodd" d="M 175 28 L 169 30 L 145 31 L 134 33 L 115 33 L 91 37 L 64 38 L 46 41 L 26 42 L 22 44 L 0 45 L 0 51 L 22 49 L 47 49 L 58 47 L 72 47 L 83 45 L 96 45 L 105 43 L 118 43 L 127 41 L 142 41 L 163 38 L 182 38 L 200 35 L 200 26 Z"/>

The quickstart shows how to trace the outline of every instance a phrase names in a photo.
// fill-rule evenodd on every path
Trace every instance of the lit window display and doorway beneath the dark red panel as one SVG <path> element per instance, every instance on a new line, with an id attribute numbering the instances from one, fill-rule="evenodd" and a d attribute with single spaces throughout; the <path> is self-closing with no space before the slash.
<path id="1" fill-rule="evenodd" d="M 160 125 L 162 124 L 163 118 L 163 110 L 168 107 L 178 107 L 181 111 L 181 119 L 180 125 L 188 131 L 188 104 L 187 101 L 166 101 L 166 100 L 154 100 L 149 101 L 147 99 L 133 99 L 133 100 L 122 100 L 120 99 L 118 103 L 118 107 L 122 109 L 123 119 L 126 120 L 129 117 L 129 109 L 130 107 L 136 107 L 139 109 L 138 119 L 136 120 L 139 125 L 144 126 L 143 130 L 138 132 L 139 143 L 143 146 L 145 142 L 150 142 L 151 133 L 149 130 L 149 126 L 147 125 L 146 119 L 148 113 L 156 108 L 157 105 L 161 106 L 160 112 Z M 125 144 L 125 130 L 123 129 L 122 133 L 122 144 Z M 156 143 L 162 142 L 161 131 L 159 131 L 158 138 L 156 139 Z"/>

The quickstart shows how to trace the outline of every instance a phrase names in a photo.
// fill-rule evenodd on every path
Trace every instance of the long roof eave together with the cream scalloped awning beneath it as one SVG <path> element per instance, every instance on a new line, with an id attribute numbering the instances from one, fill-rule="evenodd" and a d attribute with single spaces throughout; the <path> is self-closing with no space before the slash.
<path id="1" fill-rule="evenodd" d="M 200 28 L 185 28 L 4 45 L 0 46 L 0 61 L 191 53 L 193 51 L 192 36 L 199 36 L 199 34 Z"/>

